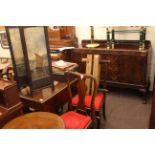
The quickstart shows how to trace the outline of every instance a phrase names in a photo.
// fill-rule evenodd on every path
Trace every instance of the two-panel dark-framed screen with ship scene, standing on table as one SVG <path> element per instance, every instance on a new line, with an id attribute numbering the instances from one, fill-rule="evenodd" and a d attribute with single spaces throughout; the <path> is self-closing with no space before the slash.
<path id="1" fill-rule="evenodd" d="M 6 27 L 6 32 L 20 91 L 54 88 L 47 27 Z"/>

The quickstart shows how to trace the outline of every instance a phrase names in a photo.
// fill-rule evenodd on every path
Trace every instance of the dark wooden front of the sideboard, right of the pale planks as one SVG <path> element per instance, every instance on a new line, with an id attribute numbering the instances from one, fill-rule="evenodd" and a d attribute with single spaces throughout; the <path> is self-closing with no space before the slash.
<path id="1" fill-rule="evenodd" d="M 110 63 L 102 64 L 101 78 L 109 81 L 119 81 L 145 85 L 146 83 L 146 57 L 128 55 L 104 55 L 102 59 Z"/>

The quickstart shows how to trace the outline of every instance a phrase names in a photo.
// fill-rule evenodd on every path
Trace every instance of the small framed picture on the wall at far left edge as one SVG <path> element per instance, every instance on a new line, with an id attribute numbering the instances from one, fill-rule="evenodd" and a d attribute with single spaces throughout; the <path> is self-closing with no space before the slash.
<path id="1" fill-rule="evenodd" d="M 0 43 L 3 49 L 9 49 L 9 43 L 5 31 L 0 31 Z"/>

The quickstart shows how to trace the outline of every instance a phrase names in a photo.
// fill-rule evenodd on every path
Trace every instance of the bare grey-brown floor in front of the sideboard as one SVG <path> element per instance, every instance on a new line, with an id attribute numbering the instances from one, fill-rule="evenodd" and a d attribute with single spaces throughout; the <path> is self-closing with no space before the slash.
<path id="1" fill-rule="evenodd" d="M 151 112 L 151 97 L 143 103 L 142 94 L 131 90 L 112 90 L 106 98 L 105 129 L 147 129 Z"/>

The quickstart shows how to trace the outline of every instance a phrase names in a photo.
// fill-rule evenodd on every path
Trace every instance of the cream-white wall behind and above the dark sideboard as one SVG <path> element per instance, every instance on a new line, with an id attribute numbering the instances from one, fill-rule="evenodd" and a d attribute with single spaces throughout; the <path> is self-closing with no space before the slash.
<path id="1" fill-rule="evenodd" d="M 117 29 L 138 29 L 137 27 L 117 27 Z M 79 45 L 81 44 L 81 40 L 83 39 L 90 39 L 90 28 L 83 27 L 83 26 L 76 26 L 76 36 L 78 38 Z M 95 26 L 94 27 L 94 38 L 95 39 L 106 39 L 106 28 L 104 26 Z M 117 39 L 139 39 L 139 35 L 136 33 L 122 33 L 116 35 Z M 154 81 L 154 73 L 155 73 L 155 26 L 147 27 L 146 31 L 146 39 L 150 40 L 152 43 L 152 59 L 151 59 L 151 73 L 150 73 L 150 90 L 153 88 L 153 81 Z"/>

